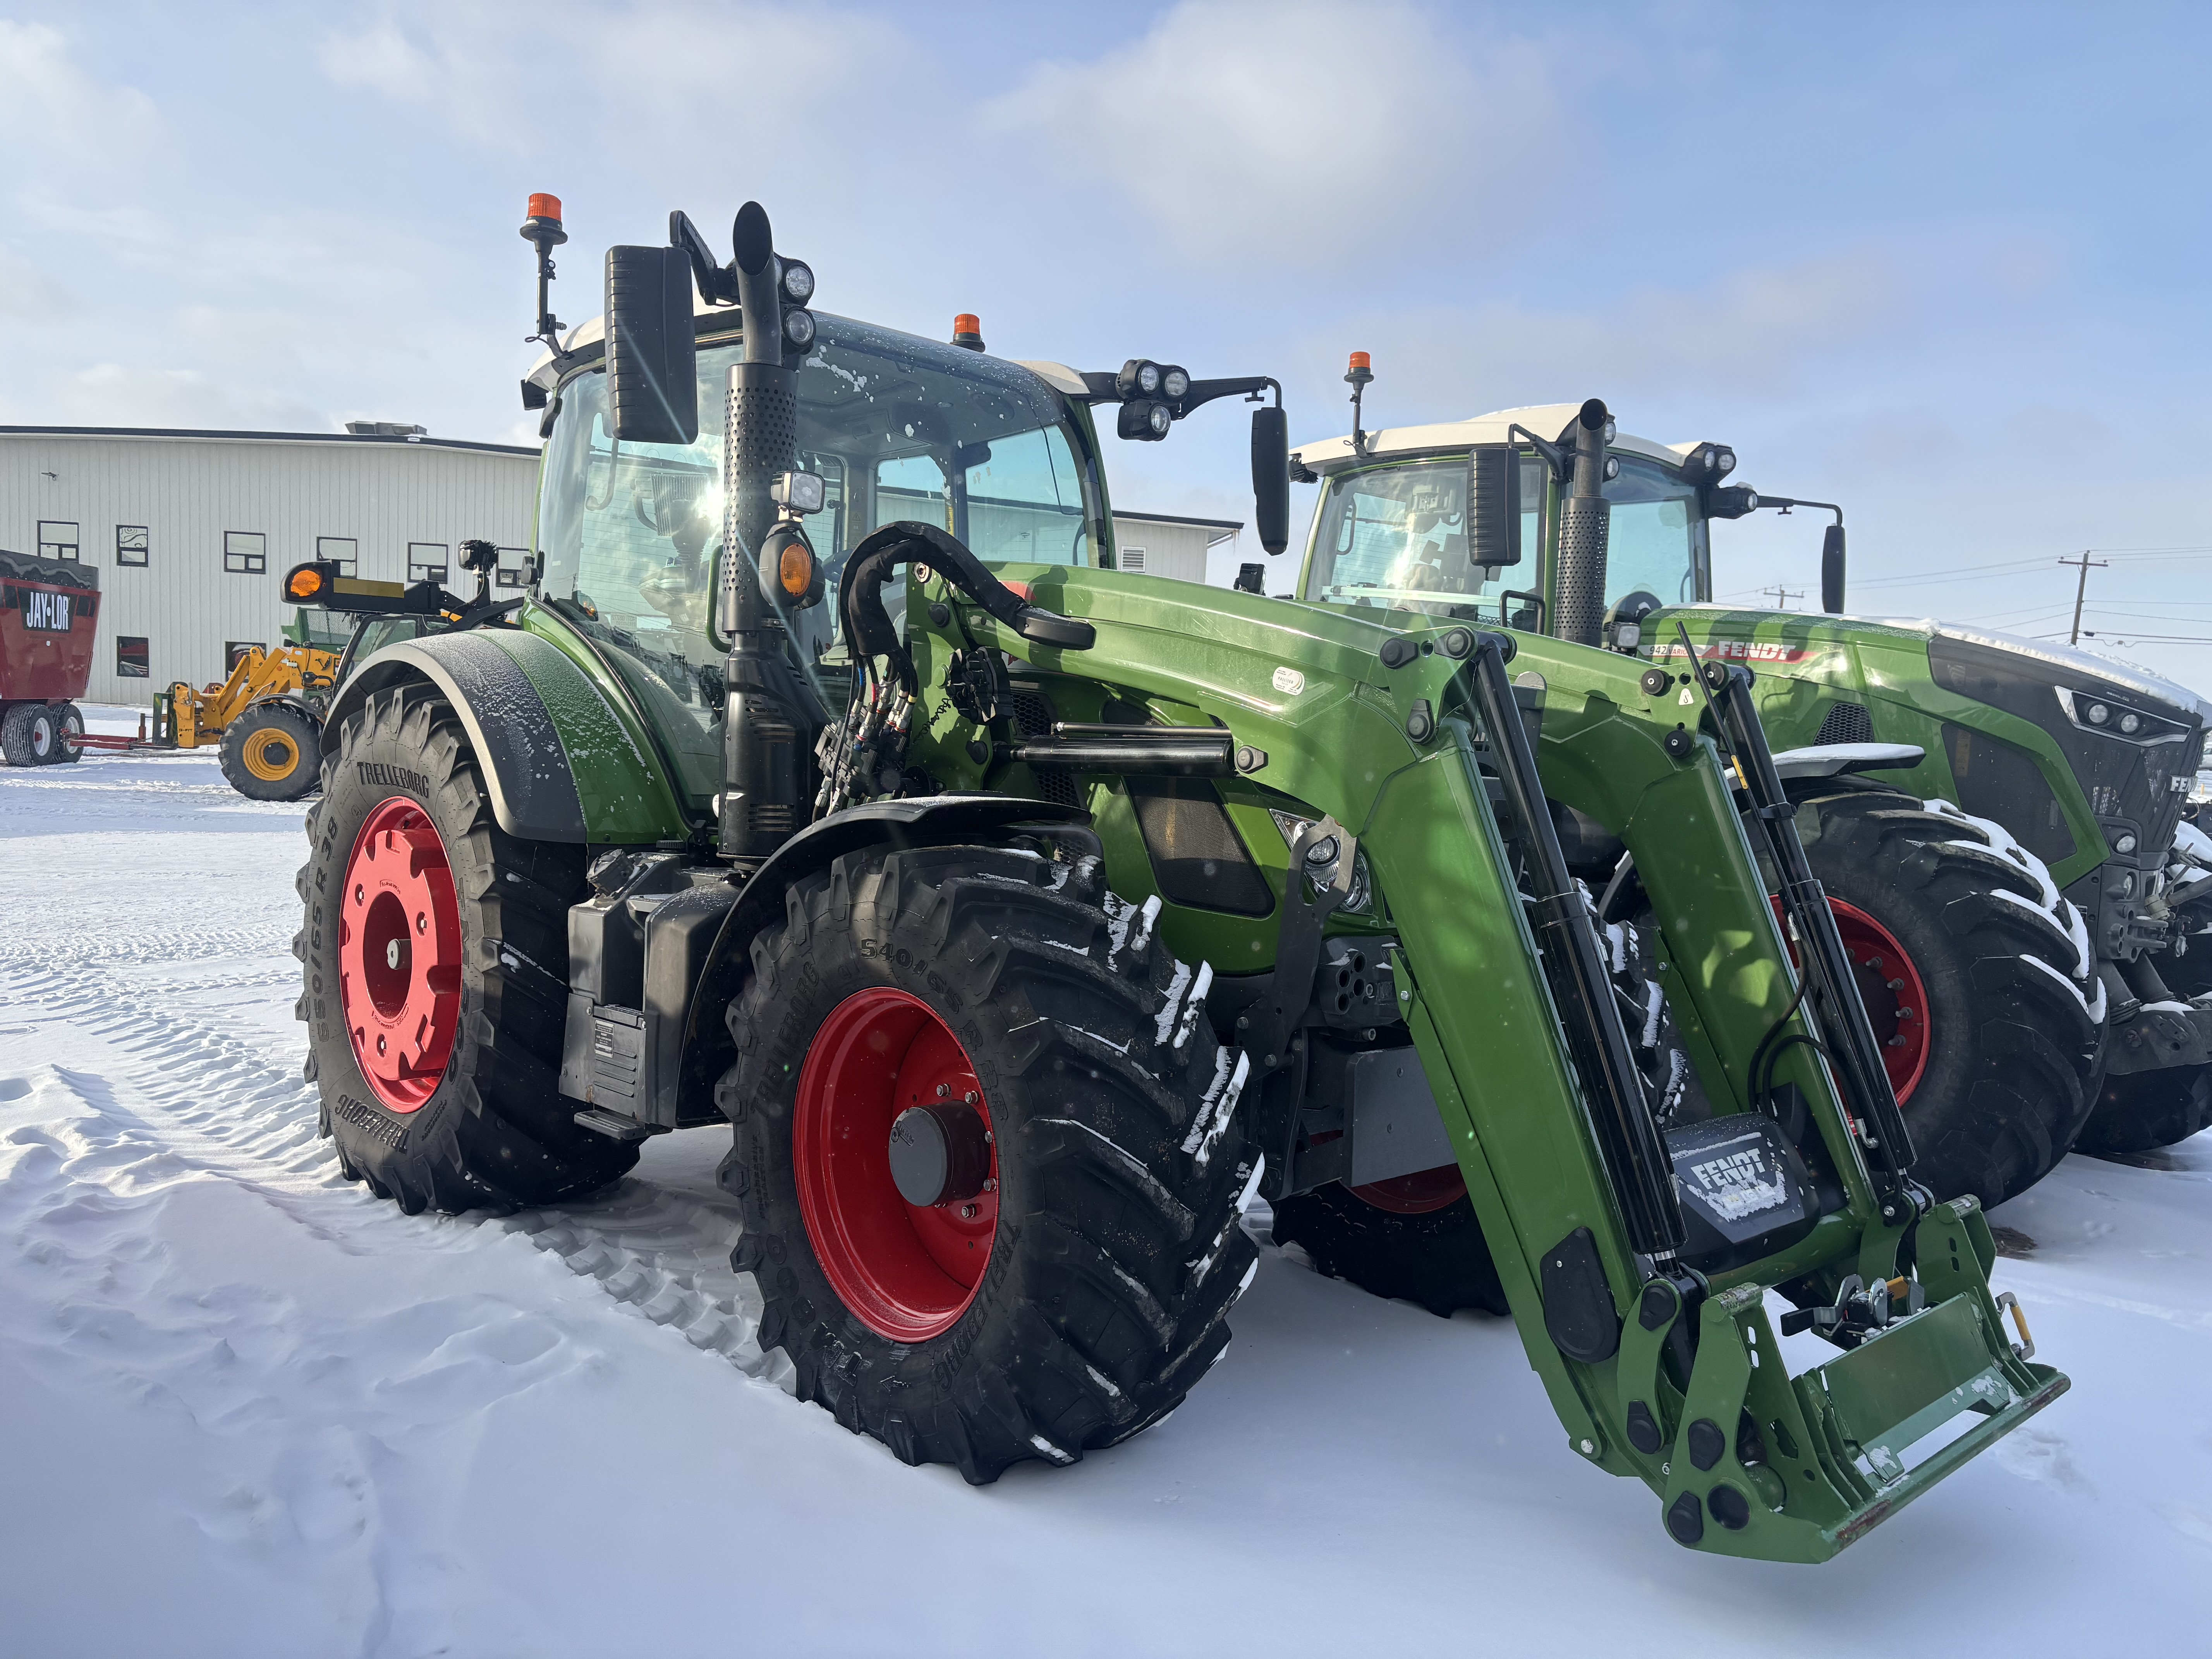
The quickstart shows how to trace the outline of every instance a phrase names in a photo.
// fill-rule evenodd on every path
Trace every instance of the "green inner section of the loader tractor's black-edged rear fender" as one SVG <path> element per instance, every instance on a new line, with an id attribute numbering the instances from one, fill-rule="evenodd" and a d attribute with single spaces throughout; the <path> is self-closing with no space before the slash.
<path id="1" fill-rule="evenodd" d="M 622 681 L 560 613 L 526 604 L 520 628 L 482 628 L 553 717 L 593 845 L 684 841 L 690 821 Z"/>

